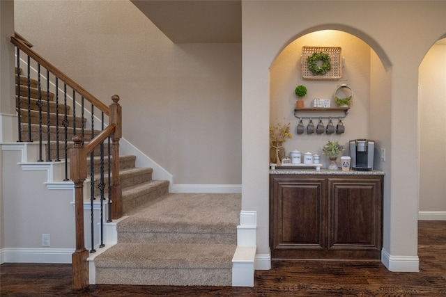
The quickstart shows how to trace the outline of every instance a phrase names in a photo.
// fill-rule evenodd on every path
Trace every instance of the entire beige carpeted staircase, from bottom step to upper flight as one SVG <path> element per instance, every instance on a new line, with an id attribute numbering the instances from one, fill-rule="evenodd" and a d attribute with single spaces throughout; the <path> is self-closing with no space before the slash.
<path id="1" fill-rule="evenodd" d="M 16 81 L 17 83 L 17 81 Z M 20 78 L 22 141 L 28 140 L 27 78 Z M 38 141 L 38 89 L 31 80 L 31 139 Z M 17 90 L 17 87 L 16 87 Z M 17 93 L 17 91 L 16 91 Z M 60 95 L 60 93 L 59 93 Z M 44 100 L 43 143 L 47 143 L 47 93 Z M 49 93 L 50 159 L 56 159 L 56 109 L 59 123 L 64 107 L 54 102 Z M 70 107 L 68 106 L 68 113 Z M 79 111 L 77 111 L 79 113 Z M 82 119 L 68 117 L 68 140 L 77 133 Z M 124 123 L 125 125 L 125 123 Z M 99 131 L 95 132 L 97 135 Z M 59 124 L 60 158 L 63 159 L 63 127 Z M 84 141 L 91 131 L 84 131 Z M 68 147 L 72 142 L 68 141 Z M 44 149 L 43 161 L 47 160 Z M 95 150 L 95 180 L 99 179 L 99 150 Z M 169 182 L 152 179 L 152 168 L 135 167 L 135 156 L 120 156 L 120 179 L 123 213 L 128 216 L 117 225 L 118 243 L 95 257 L 97 284 L 160 284 L 160 285 L 231 285 L 231 260 L 237 246 L 237 225 L 241 209 L 240 194 L 172 194 Z M 88 161 L 88 170 L 90 160 Z M 107 167 L 105 168 L 107 172 Z M 89 174 L 90 175 L 90 174 Z M 63 177 L 62 177 L 63 178 Z M 107 182 L 107 178 L 105 179 Z M 107 189 L 107 186 L 105 187 Z M 95 190 L 95 195 L 99 195 Z"/>

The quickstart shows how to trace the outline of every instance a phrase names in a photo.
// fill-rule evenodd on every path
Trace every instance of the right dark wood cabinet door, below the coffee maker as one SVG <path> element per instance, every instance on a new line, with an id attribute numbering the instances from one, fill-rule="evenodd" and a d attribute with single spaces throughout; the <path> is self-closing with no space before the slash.
<path id="1" fill-rule="evenodd" d="M 380 259 L 382 177 L 330 178 L 328 193 L 328 250 L 346 259 Z"/>

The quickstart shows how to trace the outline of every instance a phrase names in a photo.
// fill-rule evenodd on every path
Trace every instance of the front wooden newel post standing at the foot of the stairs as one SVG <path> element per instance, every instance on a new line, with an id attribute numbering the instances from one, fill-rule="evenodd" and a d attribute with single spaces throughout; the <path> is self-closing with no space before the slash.
<path id="1" fill-rule="evenodd" d="M 70 150 L 70 178 L 75 183 L 76 250 L 72 253 L 72 288 L 83 289 L 89 285 L 89 251 L 84 241 L 84 181 L 86 179 L 86 152 L 82 136 L 72 138 Z"/>

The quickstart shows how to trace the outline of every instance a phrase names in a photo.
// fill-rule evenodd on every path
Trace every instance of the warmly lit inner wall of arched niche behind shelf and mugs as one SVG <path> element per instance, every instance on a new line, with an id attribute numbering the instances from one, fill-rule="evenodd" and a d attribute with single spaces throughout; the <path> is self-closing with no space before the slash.
<path id="1" fill-rule="evenodd" d="M 294 40 L 277 54 L 270 66 L 270 123 L 290 123 L 292 138 L 284 143 L 286 154 L 292 150 L 302 153 L 312 152 L 322 154 L 322 147 L 329 140 L 337 140 L 344 145 L 344 155 L 348 155 L 348 142 L 357 138 L 368 138 L 376 142 L 374 169 L 385 171 L 384 205 L 383 205 L 383 243 L 390 242 L 390 174 L 391 166 L 391 63 L 383 49 L 369 36 L 355 29 L 327 29 L 328 26 L 318 26 L 296 35 Z M 339 26 L 333 26 L 339 29 Z M 316 30 L 321 29 L 321 30 Z M 343 28 L 346 29 L 346 28 Z M 366 38 L 367 40 L 362 39 Z M 311 80 L 302 79 L 301 54 L 302 47 L 341 47 L 344 58 L 341 79 Z M 375 50 L 377 49 L 378 52 Z M 353 105 L 348 115 L 342 119 L 346 127 L 344 134 L 296 134 L 300 119 L 295 118 L 293 109 L 298 99 L 294 93 L 295 87 L 307 87 L 305 106 L 311 106 L 316 98 L 331 99 L 334 103 L 334 92 L 347 83 L 352 88 Z M 326 114 L 325 114 L 326 115 Z M 339 116 L 339 113 L 336 115 Z M 334 125 L 338 120 L 334 115 Z M 305 122 L 305 125 L 308 124 Z M 318 118 L 315 115 L 314 123 Z M 328 120 L 323 120 L 327 125 Z M 380 160 L 381 149 L 386 152 L 387 163 Z M 326 156 L 321 156 L 323 167 L 328 166 Z M 338 164 L 339 165 L 339 164 Z"/>

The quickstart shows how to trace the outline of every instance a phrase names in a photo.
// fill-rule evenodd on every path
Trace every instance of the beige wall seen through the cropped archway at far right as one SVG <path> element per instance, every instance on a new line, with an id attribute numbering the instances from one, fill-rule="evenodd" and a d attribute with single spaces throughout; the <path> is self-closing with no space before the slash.
<path id="1" fill-rule="evenodd" d="M 420 211 L 446 219 L 446 45 L 420 64 Z M 427 212 L 427 214 L 426 214 Z"/>

